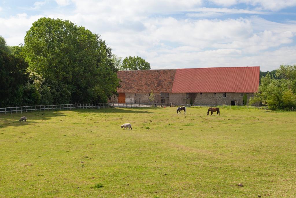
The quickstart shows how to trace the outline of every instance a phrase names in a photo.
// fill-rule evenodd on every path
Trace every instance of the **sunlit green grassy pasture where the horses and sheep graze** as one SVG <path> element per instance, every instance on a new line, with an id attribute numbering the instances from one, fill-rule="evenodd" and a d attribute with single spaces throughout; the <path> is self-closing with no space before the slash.
<path id="1" fill-rule="evenodd" d="M 296 113 L 220 113 L 1 114 L 0 197 L 295 197 Z"/>

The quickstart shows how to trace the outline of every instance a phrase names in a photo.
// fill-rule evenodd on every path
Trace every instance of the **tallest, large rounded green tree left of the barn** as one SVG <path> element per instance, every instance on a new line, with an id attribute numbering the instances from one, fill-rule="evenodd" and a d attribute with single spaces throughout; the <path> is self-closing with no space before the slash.
<path id="1" fill-rule="evenodd" d="M 23 51 L 30 69 L 50 87 L 54 104 L 107 102 L 116 93 L 111 49 L 99 35 L 69 20 L 35 21 Z"/>

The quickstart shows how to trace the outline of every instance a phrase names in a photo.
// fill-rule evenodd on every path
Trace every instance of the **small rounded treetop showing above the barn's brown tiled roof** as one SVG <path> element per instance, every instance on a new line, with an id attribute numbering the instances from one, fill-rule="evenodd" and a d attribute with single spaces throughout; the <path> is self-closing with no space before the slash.
<path id="1" fill-rule="evenodd" d="M 146 62 L 144 58 L 139 56 L 126 57 L 122 61 L 123 70 L 139 70 L 139 69 L 151 69 L 150 63 Z"/>

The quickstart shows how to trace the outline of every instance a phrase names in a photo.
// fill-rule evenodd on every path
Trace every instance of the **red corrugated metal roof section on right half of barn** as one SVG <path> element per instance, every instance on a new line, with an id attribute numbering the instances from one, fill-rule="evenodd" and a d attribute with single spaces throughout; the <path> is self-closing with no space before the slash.
<path id="1" fill-rule="evenodd" d="M 172 93 L 255 93 L 260 67 L 177 69 Z"/>

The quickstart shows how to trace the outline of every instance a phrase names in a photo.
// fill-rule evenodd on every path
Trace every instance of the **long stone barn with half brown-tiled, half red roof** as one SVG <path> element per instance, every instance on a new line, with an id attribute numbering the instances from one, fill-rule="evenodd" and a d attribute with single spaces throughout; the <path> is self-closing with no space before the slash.
<path id="1" fill-rule="evenodd" d="M 243 105 L 258 91 L 260 67 L 213 67 L 118 71 L 118 97 L 109 102 Z"/>

